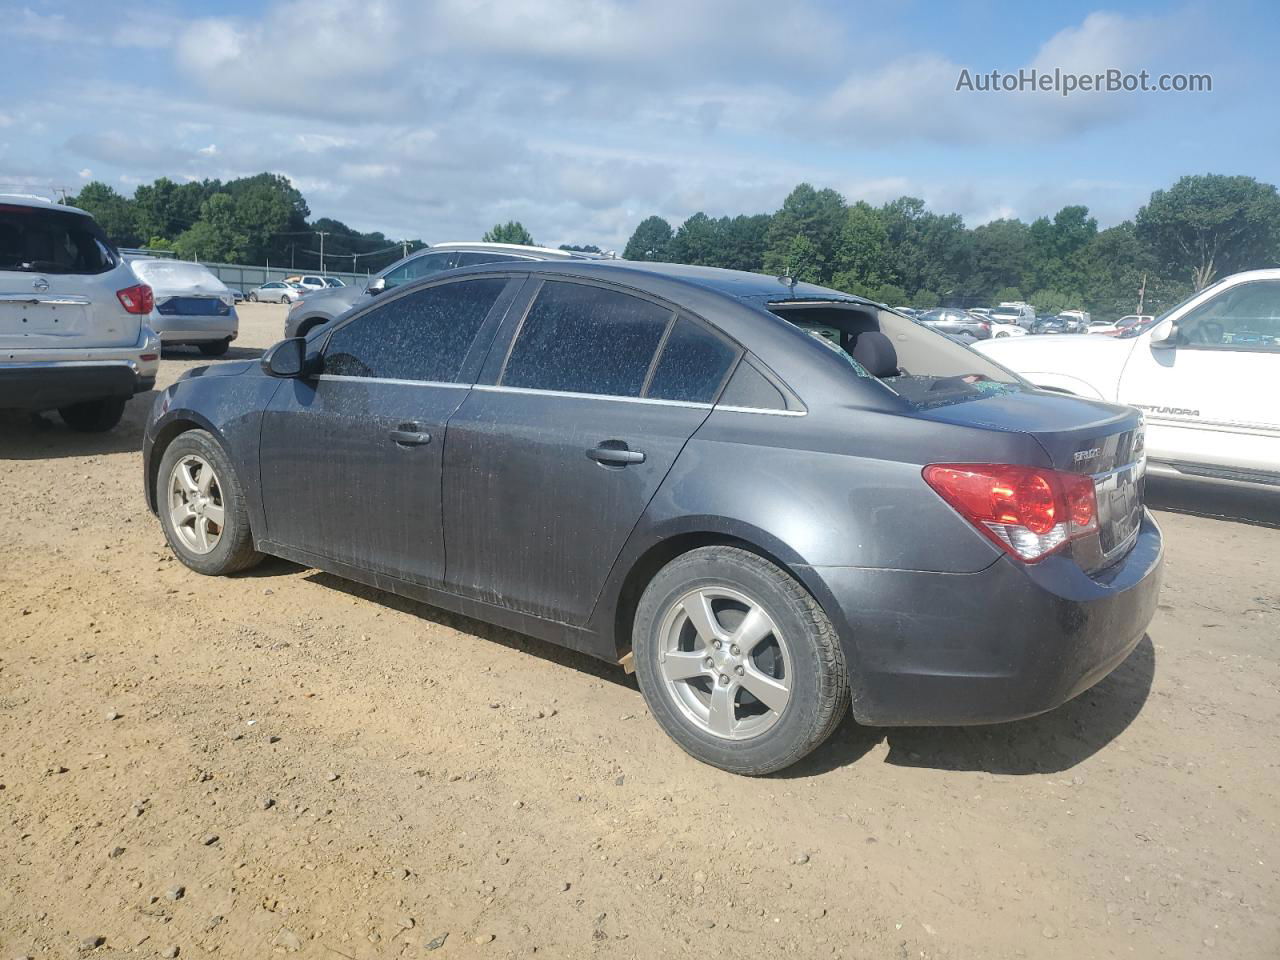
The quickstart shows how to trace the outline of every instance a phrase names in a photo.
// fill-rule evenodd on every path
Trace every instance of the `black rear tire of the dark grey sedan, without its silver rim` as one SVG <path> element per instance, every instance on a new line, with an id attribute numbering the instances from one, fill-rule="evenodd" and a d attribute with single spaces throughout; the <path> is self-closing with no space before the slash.
<path id="1" fill-rule="evenodd" d="M 790 698 L 758 736 L 728 740 L 704 730 L 685 714 L 660 673 L 667 614 L 698 588 L 749 596 L 787 637 Z M 831 736 L 849 709 L 844 652 L 822 607 L 777 566 L 736 547 L 701 547 L 658 571 L 636 608 L 632 653 L 640 691 L 658 724 L 691 756 L 731 773 L 760 776 L 790 767 Z"/>

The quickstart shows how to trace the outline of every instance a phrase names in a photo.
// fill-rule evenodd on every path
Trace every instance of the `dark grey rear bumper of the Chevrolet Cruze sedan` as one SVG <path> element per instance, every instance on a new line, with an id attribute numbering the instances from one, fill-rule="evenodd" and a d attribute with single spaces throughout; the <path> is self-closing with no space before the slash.
<path id="1" fill-rule="evenodd" d="M 1156 613 L 1160 527 L 1093 576 L 1065 556 L 978 573 L 810 567 L 833 599 L 854 716 L 874 726 L 996 723 L 1051 710 L 1133 652 Z"/>

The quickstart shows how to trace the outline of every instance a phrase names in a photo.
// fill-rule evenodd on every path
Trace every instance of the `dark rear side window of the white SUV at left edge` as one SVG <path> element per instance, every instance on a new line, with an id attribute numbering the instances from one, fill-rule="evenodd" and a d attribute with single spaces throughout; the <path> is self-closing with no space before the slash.
<path id="1" fill-rule="evenodd" d="M 101 274 L 119 257 L 92 218 L 67 210 L 0 204 L 0 270 Z"/>

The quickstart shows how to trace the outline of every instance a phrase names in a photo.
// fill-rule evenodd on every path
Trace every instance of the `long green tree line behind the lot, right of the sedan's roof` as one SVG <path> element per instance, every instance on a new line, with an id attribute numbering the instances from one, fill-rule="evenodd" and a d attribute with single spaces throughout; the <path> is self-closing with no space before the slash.
<path id="1" fill-rule="evenodd" d="M 677 229 L 649 216 L 622 256 L 763 271 L 892 306 L 1025 300 L 1110 317 L 1158 312 L 1215 279 L 1280 264 L 1280 195 L 1252 177 L 1204 174 L 1157 189 L 1105 230 L 1082 205 L 966 228 L 918 197 L 850 204 L 801 183 L 773 214 L 696 212 Z"/>

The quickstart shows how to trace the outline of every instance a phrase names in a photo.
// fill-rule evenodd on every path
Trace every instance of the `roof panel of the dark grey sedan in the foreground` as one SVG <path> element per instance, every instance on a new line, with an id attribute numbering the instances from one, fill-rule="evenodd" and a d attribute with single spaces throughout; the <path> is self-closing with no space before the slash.
<path id="1" fill-rule="evenodd" d="M 724 270 L 718 266 L 692 266 L 689 264 L 662 264 L 645 260 L 543 260 L 529 261 L 515 268 L 512 264 L 480 264 L 465 268 L 467 273 L 503 273 L 512 269 L 535 274 L 566 274 L 600 280 L 613 280 L 658 293 L 658 287 L 678 284 L 698 291 L 718 293 L 723 297 L 762 303 L 861 303 L 883 307 L 865 297 L 818 287 L 812 283 L 788 283 L 786 278 L 753 274 L 745 270 Z M 886 310 L 888 307 L 884 307 Z"/>

